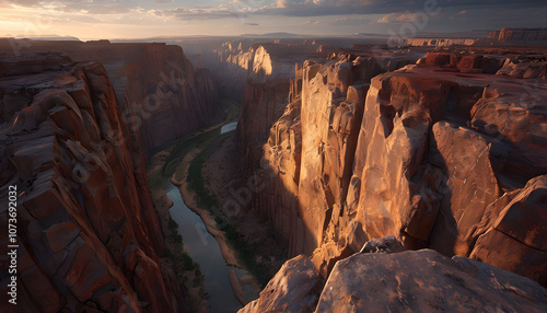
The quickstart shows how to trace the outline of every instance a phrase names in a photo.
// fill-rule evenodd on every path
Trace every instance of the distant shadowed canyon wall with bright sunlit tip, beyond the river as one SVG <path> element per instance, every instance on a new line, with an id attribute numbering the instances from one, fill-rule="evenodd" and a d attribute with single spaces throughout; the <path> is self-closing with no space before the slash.
<path id="1" fill-rule="evenodd" d="M 242 101 L 236 144 L 244 159 L 244 176 L 249 176 L 258 166 L 270 127 L 281 117 L 291 91 L 295 91 L 291 82 L 294 65 L 306 57 L 325 58 L 327 54 L 309 44 L 254 44 L 245 49 L 243 43 L 235 42 L 225 43 L 213 53 L 218 55 L 217 67 L 230 74 L 221 74 L 223 91 Z"/>

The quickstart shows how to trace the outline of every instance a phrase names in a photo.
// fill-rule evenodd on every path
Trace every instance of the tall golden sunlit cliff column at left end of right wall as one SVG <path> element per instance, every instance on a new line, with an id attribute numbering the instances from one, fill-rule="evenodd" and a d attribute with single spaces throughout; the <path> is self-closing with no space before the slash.
<path id="1" fill-rule="evenodd" d="M 260 166 L 266 181 L 256 206 L 270 218 L 291 255 L 311 254 L 331 230 L 329 220 L 340 215 L 357 161 L 356 148 L 363 118 L 364 95 L 372 77 L 387 69 L 416 62 L 419 56 L 333 55 L 326 63 L 298 63 L 282 117 L 271 127 L 263 147 Z M 314 208 L 314 209 L 305 209 Z M 347 244 L 359 250 L 362 227 L 353 223 Z M 356 233 L 357 232 L 357 233 Z M 325 254 L 338 254 L 337 244 Z M 342 247 L 344 254 L 350 253 Z M 328 263 L 340 255 L 333 255 Z M 315 260 L 314 260 L 315 262 Z"/>

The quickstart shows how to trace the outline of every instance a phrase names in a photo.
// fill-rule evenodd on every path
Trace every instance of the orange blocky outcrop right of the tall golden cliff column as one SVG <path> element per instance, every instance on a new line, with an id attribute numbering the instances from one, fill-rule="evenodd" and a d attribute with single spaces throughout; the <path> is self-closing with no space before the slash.
<path id="1" fill-rule="evenodd" d="M 484 228 L 498 218 L 490 205 L 546 173 L 544 165 L 529 166 L 532 160 L 545 158 L 532 138 L 537 142 L 546 135 L 525 119 L 535 125 L 547 119 L 537 109 L 544 104 L 516 101 L 525 92 L 522 83 L 496 80 L 496 76 L 474 79 L 431 71 L 408 67 L 373 79 L 351 178 L 356 187 L 349 190 L 352 197 L 347 199 L 345 215 L 354 213 L 369 237 L 398 234 L 407 247 L 429 246 L 447 256 L 470 256 Z M 509 118 L 493 113 L 493 107 L 509 103 L 520 103 L 515 109 L 522 115 Z M 542 209 L 532 211 L 540 215 Z M 344 229 L 344 222 L 339 225 Z M 547 234 L 545 225 L 528 231 Z M 503 253 L 524 247 L 519 241 L 513 244 Z M 534 255 L 546 260 L 544 250 Z M 490 257 L 482 262 L 516 269 Z M 546 277 L 547 273 L 531 269 L 535 260 L 524 259 L 522 255 L 521 269 L 528 270 L 517 274 Z"/>

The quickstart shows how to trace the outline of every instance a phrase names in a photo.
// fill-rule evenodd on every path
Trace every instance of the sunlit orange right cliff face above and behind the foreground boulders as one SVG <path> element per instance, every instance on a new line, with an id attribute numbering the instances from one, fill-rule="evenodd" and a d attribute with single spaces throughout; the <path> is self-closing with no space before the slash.
<path id="1" fill-rule="evenodd" d="M 376 76 L 389 63 L 401 68 Z M 264 146 L 272 179 L 256 207 L 324 277 L 393 234 L 546 285 L 543 80 L 507 74 L 499 56 L 432 53 L 405 65 L 341 55 L 298 66 L 302 88 L 291 86 Z"/>

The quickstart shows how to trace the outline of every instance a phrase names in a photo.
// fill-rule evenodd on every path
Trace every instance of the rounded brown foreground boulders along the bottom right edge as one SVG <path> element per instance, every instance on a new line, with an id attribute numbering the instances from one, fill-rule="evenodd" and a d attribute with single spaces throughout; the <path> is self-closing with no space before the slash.
<path id="1" fill-rule="evenodd" d="M 544 288 L 532 279 L 466 257 L 449 258 L 432 250 L 406 251 L 394 236 L 369 241 L 360 253 L 336 263 L 323 288 L 323 283 L 316 283 L 319 276 L 311 265 L 312 269 L 303 269 L 309 263 L 303 256 L 288 260 L 260 298 L 240 312 L 544 312 L 547 309 Z M 294 283 L 303 288 L 293 288 Z"/>

